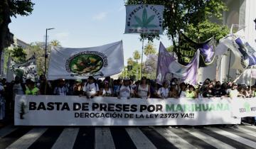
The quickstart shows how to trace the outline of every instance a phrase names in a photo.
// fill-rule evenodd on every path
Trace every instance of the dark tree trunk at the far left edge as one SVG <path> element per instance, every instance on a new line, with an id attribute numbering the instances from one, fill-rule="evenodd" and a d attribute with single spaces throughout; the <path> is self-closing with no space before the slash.
<path id="1" fill-rule="evenodd" d="M 0 57 L 1 53 L 4 50 L 4 48 L 9 47 L 10 43 L 8 40 L 9 35 L 9 28 L 8 25 L 11 23 L 11 11 L 9 8 L 9 0 L 1 0 L 0 2 L 1 9 L 3 11 L 1 12 L 1 22 L 0 22 Z M 0 67 L 1 67 L 1 61 L 0 61 Z M 1 70 L 1 68 L 0 68 Z"/>

